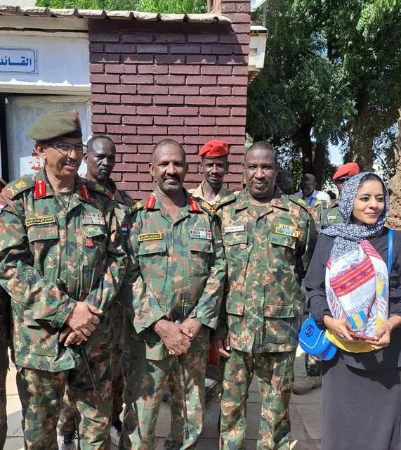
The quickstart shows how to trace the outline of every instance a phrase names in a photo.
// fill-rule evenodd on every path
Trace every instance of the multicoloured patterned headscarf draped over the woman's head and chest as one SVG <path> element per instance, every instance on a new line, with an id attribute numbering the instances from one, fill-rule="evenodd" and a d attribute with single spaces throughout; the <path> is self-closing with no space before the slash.
<path id="1" fill-rule="evenodd" d="M 346 181 L 338 201 L 344 223 L 331 225 L 322 233 L 334 237 L 325 277 L 331 314 L 336 319 L 347 319 L 353 330 L 372 337 L 388 319 L 388 273 L 386 262 L 369 238 L 383 231 L 390 202 L 386 186 L 377 176 L 383 185 L 383 212 L 374 225 L 351 222 L 358 188 L 368 174 L 370 172 L 357 174 Z M 372 351 L 367 342 L 344 342 L 331 330 L 326 333 L 331 342 L 348 352 Z"/>

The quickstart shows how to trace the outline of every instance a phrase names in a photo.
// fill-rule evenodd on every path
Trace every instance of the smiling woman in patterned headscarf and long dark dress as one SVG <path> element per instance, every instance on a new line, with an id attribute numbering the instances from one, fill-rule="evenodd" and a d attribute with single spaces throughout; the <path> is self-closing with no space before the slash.
<path id="1" fill-rule="evenodd" d="M 323 361 L 322 450 L 401 449 L 401 232 L 388 275 L 388 208 L 379 176 L 350 178 L 344 223 L 322 231 L 305 277 L 313 318 L 338 347 Z"/>

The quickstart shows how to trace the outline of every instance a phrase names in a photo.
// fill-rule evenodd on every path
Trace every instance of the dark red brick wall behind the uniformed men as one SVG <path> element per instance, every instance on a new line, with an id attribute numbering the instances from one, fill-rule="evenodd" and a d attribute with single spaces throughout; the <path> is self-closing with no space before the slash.
<path id="1" fill-rule="evenodd" d="M 114 179 L 133 198 L 155 184 L 147 171 L 155 143 L 183 144 L 186 186 L 202 181 L 199 146 L 213 138 L 230 145 L 232 189 L 241 186 L 249 53 L 249 2 L 215 7 L 232 25 L 91 20 L 93 134 L 117 144 Z"/>

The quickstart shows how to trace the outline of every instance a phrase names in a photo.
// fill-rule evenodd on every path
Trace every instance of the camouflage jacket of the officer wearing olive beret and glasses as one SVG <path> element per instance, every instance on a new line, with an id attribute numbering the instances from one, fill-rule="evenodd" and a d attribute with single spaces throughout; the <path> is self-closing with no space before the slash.
<path id="1" fill-rule="evenodd" d="M 58 342 L 67 317 L 83 300 L 107 315 L 124 278 L 124 238 L 110 193 L 88 187 L 77 176 L 67 212 L 44 170 L 0 194 L 0 285 L 11 295 L 18 366 L 76 366 L 78 350 Z"/>

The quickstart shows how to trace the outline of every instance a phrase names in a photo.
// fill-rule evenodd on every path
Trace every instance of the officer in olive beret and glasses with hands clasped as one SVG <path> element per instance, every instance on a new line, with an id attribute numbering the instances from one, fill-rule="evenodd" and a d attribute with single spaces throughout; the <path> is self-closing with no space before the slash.
<path id="1" fill-rule="evenodd" d="M 41 117 L 29 137 L 44 169 L 0 195 L 0 285 L 11 295 L 25 449 L 57 449 L 66 385 L 84 422 L 82 449 L 108 449 L 108 309 L 126 270 L 124 237 L 107 195 L 77 176 L 77 112 Z"/>

